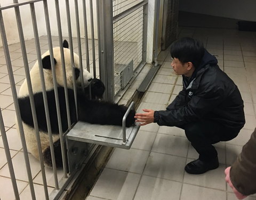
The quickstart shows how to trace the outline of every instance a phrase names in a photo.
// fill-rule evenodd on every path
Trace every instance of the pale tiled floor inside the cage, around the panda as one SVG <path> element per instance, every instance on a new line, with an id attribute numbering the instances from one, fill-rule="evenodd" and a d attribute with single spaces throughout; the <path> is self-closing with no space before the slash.
<path id="1" fill-rule="evenodd" d="M 53 47 L 59 46 L 59 38 L 52 37 L 53 39 Z M 63 38 L 65 39 L 65 38 Z M 67 39 L 67 38 L 66 38 Z M 74 41 L 77 39 L 74 38 Z M 97 41 L 95 41 L 95 47 L 97 48 Z M 37 60 L 36 55 L 36 47 L 34 39 L 25 41 L 26 43 L 26 50 L 27 50 L 27 57 L 29 67 L 33 67 L 34 63 Z M 82 45 L 84 41 L 82 40 Z M 89 44 L 91 41 L 89 41 Z M 41 44 L 41 52 L 44 53 L 49 49 L 47 44 L 47 37 L 42 36 L 40 37 L 40 44 Z M 91 44 L 90 44 L 91 46 Z M 14 74 L 14 80 L 17 92 L 19 92 L 20 85 L 23 83 L 25 79 L 25 69 L 23 64 L 22 53 L 20 49 L 20 44 L 11 44 L 9 45 L 11 63 L 12 63 L 12 70 Z M 74 42 L 74 51 L 78 53 L 77 43 Z M 89 50 L 92 52 L 92 49 Z M 96 57 L 98 58 L 98 50 L 95 51 Z M 83 63 L 85 65 L 86 62 L 86 55 L 85 52 L 82 52 Z M 90 54 L 90 68 L 92 70 L 92 55 Z M 98 65 L 98 59 L 96 61 Z M 0 47 L 0 107 L 4 119 L 5 131 L 7 135 L 7 140 L 9 143 L 10 153 L 12 157 L 12 163 L 15 173 L 15 178 L 17 179 L 18 190 L 20 194 L 20 199 L 31 199 L 30 196 L 30 189 L 28 185 L 28 178 L 26 173 L 26 166 L 25 160 L 23 157 L 22 145 L 20 136 L 16 131 L 15 127 L 15 108 L 12 98 L 12 91 L 11 85 L 9 82 L 8 71 L 6 67 L 5 55 L 3 52 L 3 47 Z M 99 70 L 97 67 L 97 75 L 99 74 Z M 146 151 L 147 152 L 147 151 Z M 42 172 L 37 159 L 35 159 L 32 155 L 29 154 L 29 162 L 31 167 L 31 174 L 34 182 L 34 188 L 36 193 L 36 199 L 45 199 L 44 196 L 44 188 L 43 188 L 43 181 L 42 181 Z M 45 168 L 46 173 L 46 180 L 48 186 L 49 194 L 54 188 L 54 178 L 53 172 L 49 168 Z M 63 176 L 62 169 L 57 171 L 58 180 L 60 180 Z M 10 179 L 9 168 L 7 165 L 4 145 L 2 141 L 2 135 L 0 134 L 0 199 L 1 200 L 14 200 L 14 193 L 12 189 L 12 183 Z"/>

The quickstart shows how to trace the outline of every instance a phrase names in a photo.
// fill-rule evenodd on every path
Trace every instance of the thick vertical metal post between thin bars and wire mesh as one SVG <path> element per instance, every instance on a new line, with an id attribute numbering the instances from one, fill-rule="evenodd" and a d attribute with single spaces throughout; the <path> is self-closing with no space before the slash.
<path id="1" fill-rule="evenodd" d="M 113 1 L 98 0 L 100 8 L 101 81 L 106 86 L 104 99 L 114 102 L 114 39 L 113 39 Z"/>

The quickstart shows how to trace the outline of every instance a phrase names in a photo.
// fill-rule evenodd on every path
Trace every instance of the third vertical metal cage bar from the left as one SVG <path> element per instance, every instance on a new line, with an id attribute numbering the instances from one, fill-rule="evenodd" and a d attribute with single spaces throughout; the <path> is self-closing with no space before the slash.
<path id="1" fill-rule="evenodd" d="M 51 128 L 51 122 L 50 122 L 49 107 L 48 107 L 48 102 L 47 102 L 47 95 L 46 95 L 46 88 L 45 88 L 45 81 L 44 81 L 44 71 L 43 71 L 41 49 L 40 49 L 40 44 L 39 44 L 39 37 L 38 37 L 38 29 L 37 29 L 37 22 L 36 22 L 34 4 L 33 5 L 30 4 L 30 9 L 31 9 L 35 44 L 36 44 L 36 50 L 37 50 L 36 52 L 37 52 L 37 60 L 38 60 L 38 66 L 39 66 L 39 75 L 40 75 L 40 79 L 41 79 L 41 86 L 42 86 L 42 93 L 43 93 L 43 100 L 44 100 L 44 109 L 45 109 L 47 131 L 48 131 L 49 140 L 50 140 L 53 177 L 54 177 L 54 182 L 55 182 L 55 189 L 59 189 L 59 183 L 58 183 L 58 177 L 57 177 L 57 167 L 56 167 L 56 162 L 55 162 L 54 147 L 53 147 L 53 140 L 52 140 L 52 128 Z"/>

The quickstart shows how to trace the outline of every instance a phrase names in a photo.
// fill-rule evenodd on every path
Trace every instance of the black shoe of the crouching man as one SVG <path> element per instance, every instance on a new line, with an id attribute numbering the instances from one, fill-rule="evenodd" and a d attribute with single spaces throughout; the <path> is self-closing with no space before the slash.
<path id="1" fill-rule="evenodd" d="M 196 159 L 195 161 L 192 161 L 185 166 L 185 171 L 189 174 L 203 174 L 209 170 L 217 169 L 218 167 L 218 157 L 207 162 Z"/>

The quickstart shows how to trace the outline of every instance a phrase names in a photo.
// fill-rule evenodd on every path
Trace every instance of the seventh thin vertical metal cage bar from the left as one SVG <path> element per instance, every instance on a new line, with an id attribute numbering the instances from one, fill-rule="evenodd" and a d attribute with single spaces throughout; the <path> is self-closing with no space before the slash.
<path id="1" fill-rule="evenodd" d="M 77 31 L 77 43 L 78 43 L 79 69 L 81 73 L 81 86 L 82 86 L 82 90 L 84 91 L 83 60 L 82 60 L 79 11 L 78 11 L 77 0 L 75 0 L 75 13 L 76 13 L 76 31 Z"/>

